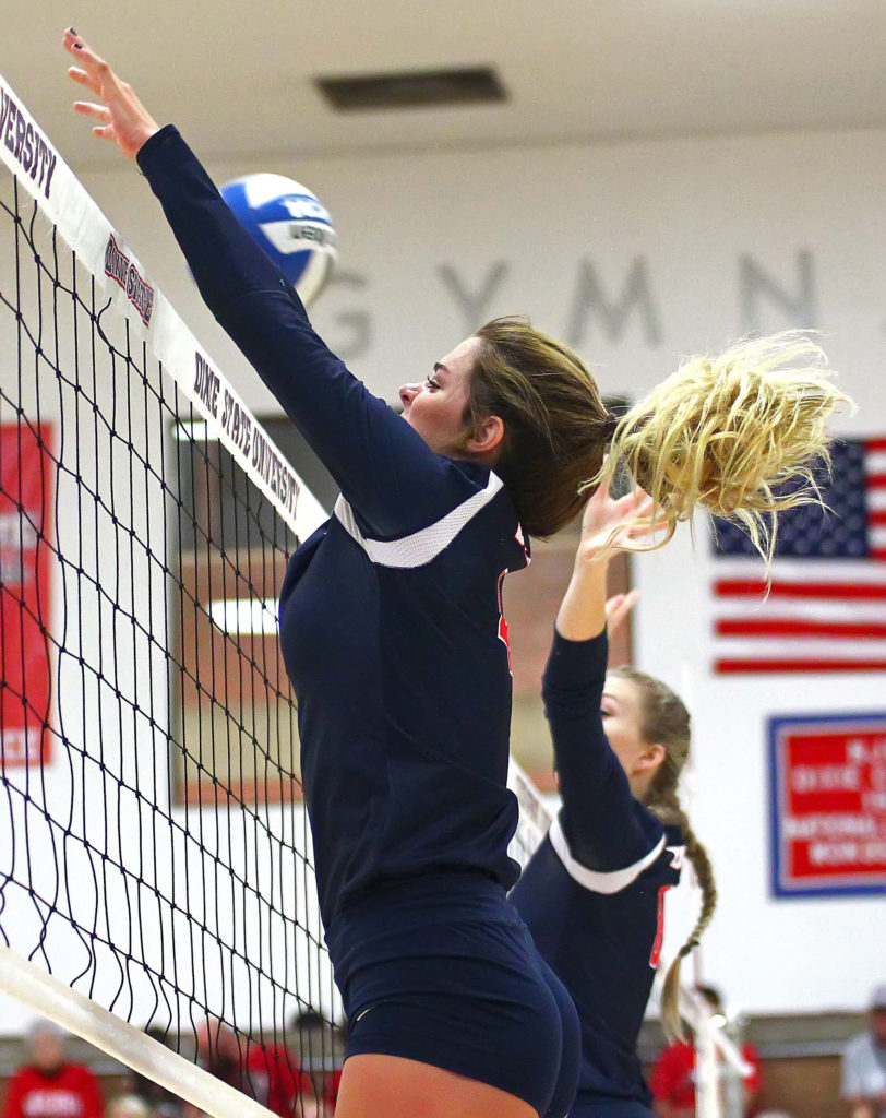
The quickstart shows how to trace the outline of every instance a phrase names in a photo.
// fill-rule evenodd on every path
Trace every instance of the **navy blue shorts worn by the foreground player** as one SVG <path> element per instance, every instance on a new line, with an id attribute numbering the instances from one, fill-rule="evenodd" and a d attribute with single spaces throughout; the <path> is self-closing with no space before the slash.
<path id="1" fill-rule="evenodd" d="M 326 935 L 347 1055 L 381 1053 L 489 1083 L 563 1118 L 581 1040 L 572 999 L 504 890 L 470 873 L 387 882 Z"/>

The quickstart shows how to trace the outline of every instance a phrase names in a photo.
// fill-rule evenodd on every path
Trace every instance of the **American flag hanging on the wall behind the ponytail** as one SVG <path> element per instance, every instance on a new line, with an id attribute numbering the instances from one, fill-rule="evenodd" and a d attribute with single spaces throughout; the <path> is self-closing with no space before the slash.
<path id="1" fill-rule="evenodd" d="M 828 509 L 779 517 L 768 598 L 751 541 L 715 522 L 716 673 L 886 671 L 886 438 L 841 440 L 831 457 Z"/>

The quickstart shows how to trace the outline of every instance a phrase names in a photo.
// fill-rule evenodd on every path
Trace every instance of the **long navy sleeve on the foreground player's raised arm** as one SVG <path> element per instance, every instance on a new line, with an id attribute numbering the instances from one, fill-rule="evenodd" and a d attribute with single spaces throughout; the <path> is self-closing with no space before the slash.
<path id="1" fill-rule="evenodd" d="M 326 348 L 178 131 L 166 125 L 137 159 L 207 306 L 366 525 L 417 531 L 470 496 L 469 472 L 434 454 Z"/>

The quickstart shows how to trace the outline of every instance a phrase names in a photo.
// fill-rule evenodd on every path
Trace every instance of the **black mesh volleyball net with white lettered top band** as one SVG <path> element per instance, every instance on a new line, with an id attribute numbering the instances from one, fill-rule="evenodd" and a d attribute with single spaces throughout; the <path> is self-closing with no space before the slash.
<path id="1" fill-rule="evenodd" d="M 327 513 L 2 76 L 0 136 L 0 989 L 297 1114 L 341 1004 L 276 604 Z M 191 1062 L 207 1018 L 257 1102 Z"/>

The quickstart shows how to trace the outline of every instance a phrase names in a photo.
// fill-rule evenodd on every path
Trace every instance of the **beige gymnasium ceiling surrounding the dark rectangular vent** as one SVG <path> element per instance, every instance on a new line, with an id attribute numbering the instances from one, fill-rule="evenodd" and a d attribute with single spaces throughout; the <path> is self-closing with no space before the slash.
<path id="1" fill-rule="evenodd" d="M 68 23 L 206 158 L 886 124 L 885 0 L 3 0 L 0 73 L 75 168 Z M 317 75 L 495 66 L 504 104 L 335 113 Z"/>

